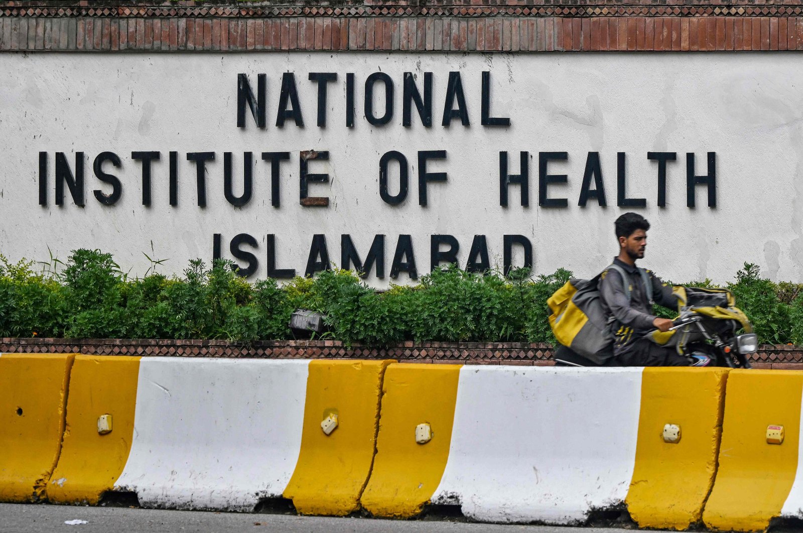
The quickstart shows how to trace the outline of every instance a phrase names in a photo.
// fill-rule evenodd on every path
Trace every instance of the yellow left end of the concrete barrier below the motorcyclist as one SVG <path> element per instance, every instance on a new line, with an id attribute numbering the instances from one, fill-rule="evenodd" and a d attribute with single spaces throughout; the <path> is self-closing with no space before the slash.
<path id="1" fill-rule="evenodd" d="M 449 458 L 461 367 L 391 364 L 385 371 L 377 455 L 360 500 L 372 515 L 417 515 L 438 488 Z M 432 439 L 418 444 L 415 429 L 424 423 Z"/>

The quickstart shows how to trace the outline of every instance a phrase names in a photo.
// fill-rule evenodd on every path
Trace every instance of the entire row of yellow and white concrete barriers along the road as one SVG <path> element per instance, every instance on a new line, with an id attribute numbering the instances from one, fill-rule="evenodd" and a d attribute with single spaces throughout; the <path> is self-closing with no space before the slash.
<path id="1" fill-rule="evenodd" d="M 0 501 L 761 531 L 803 516 L 801 401 L 791 371 L 2 355 Z"/>

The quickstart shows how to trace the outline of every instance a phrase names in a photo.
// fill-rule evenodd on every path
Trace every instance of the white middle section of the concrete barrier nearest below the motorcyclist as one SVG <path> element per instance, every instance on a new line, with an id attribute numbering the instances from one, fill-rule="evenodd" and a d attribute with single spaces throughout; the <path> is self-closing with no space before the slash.
<path id="1" fill-rule="evenodd" d="M 622 505 L 642 368 L 460 369 L 451 446 L 432 502 L 483 522 L 581 523 Z"/>

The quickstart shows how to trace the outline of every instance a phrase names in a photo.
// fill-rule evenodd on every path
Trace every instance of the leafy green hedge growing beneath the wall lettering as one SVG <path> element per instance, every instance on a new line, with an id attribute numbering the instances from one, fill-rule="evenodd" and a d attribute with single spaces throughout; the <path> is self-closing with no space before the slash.
<path id="1" fill-rule="evenodd" d="M 75 250 L 66 263 L 52 259 L 39 271 L 0 254 L 0 337 L 283 340 L 293 338 L 291 312 L 305 308 L 324 313 L 324 336 L 346 344 L 552 342 L 546 299 L 572 275 L 559 269 L 530 279 L 520 270 L 505 278 L 449 267 L 415 287 L 379 292 L 351 271 L 279 286 L 248 283 L 224 261 L 211 268 L 190 261 L 182 277 L 158 274 L 158 263 L 132 279 L 100 250 Z M 745 263 L 727 287 L 761 342 L 803 344 L 803 285 L 762 279 Z"/>

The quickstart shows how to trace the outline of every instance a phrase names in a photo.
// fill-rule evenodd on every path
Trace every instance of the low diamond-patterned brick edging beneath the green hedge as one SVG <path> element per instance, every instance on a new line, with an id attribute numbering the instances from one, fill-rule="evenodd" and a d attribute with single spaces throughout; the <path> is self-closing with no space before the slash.
<path id="1" fill-rule="evenodd" d="M 264 357 L 268 359 L 395 359 L 402 363 L 519 364 L 548 366 L 545 343 L 413 343 L 344 347 L 339 340 L 0 339 L 0 353 L 83 353 L 100 356 Z M 756 368 L 803 370 L 803 346 L 765 344 L 752 357 Z"/>

